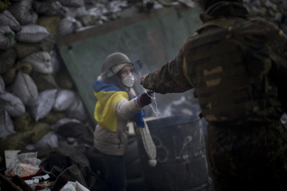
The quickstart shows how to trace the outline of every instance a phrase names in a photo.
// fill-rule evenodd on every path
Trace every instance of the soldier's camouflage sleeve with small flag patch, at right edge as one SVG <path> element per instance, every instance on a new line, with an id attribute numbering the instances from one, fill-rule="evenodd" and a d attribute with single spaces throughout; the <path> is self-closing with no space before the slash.
<path id="1" fill-rule="evenodd" d="M 276 25 L 265 22 L 265 52 L 272 60 L 269 73 L 277 87 L 278 98 L 287 113 L 287 36 Z"/>

